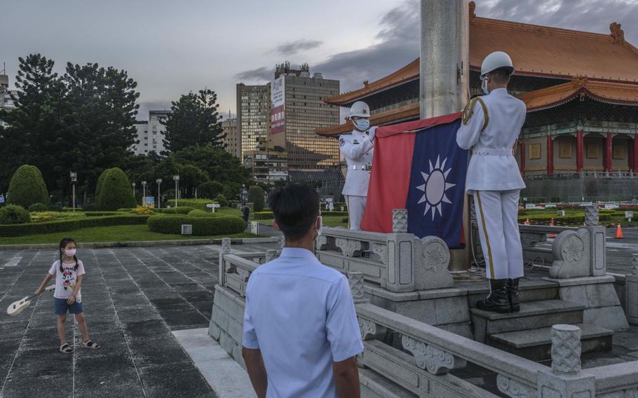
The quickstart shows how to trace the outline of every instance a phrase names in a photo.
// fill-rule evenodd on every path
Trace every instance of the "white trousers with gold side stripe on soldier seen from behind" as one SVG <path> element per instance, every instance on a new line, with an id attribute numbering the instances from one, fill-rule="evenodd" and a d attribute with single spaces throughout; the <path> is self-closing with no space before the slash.
<path id="1" fill-rule="evenodd" d="M 489 279 L 523 276 L 523 250 L 518 231 L 520 191 L 474 191 L 474 206 Z"/>

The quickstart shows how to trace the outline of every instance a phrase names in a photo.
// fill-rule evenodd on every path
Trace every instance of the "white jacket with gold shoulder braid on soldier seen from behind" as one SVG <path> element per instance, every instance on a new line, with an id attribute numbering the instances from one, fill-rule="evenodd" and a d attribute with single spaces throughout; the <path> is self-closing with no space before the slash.
<path id="1" fill-rule="evenodd" d="M 509 95 L 505 88 L 468 103 L 456 143 L 463 149 L 473 148 L 466 178 L 469 193 L 525 188 L 513 146 L 526 113 L 524 102 Z"/>

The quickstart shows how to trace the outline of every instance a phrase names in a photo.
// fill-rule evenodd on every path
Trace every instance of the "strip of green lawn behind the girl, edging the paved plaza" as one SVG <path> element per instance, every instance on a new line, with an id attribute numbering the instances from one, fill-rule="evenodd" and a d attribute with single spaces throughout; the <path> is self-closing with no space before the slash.
<path id="1" fill-rule="evenodd" d="M 58 243 L 63 238 L 73 238 L 79 243 L 88 242 L 134 242 L 142 240 L 191 240 L 212 238 L 257 238 L 252 233 L 236 233 L 223 236 L 168 235 L 149 231 L 144 225 L 102 226 L 81 228 L 76 231 L 46 233 L 41 235 L 0 238 L 0 245 L 30 245 L 36 243 Z"/>

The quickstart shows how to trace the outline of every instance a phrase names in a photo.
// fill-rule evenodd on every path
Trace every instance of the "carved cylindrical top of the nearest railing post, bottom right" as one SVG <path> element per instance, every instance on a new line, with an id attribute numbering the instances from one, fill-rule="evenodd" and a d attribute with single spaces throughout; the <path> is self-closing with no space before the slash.
<path id="1" fill-rule="evenodd" d="M 575 374 L 581 371 L 581 329 L 570 324 L 552 326 L 552 370 Z"/>

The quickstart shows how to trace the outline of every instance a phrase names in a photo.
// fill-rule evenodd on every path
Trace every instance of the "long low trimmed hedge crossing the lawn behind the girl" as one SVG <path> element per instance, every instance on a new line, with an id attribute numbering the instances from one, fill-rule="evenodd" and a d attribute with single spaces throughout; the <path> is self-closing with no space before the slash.
<path id="1" fill-rule="evenodd" d="M 65 219 L 45 221 L 34 224 L 0 225 L 0 236 L 22 236 L 42 233 L 74 231 L 95 226 L 140 225 L 146 224 L 149 216 L 118 215 L 105 217 L 87 217 L 83 219 Z"/>

